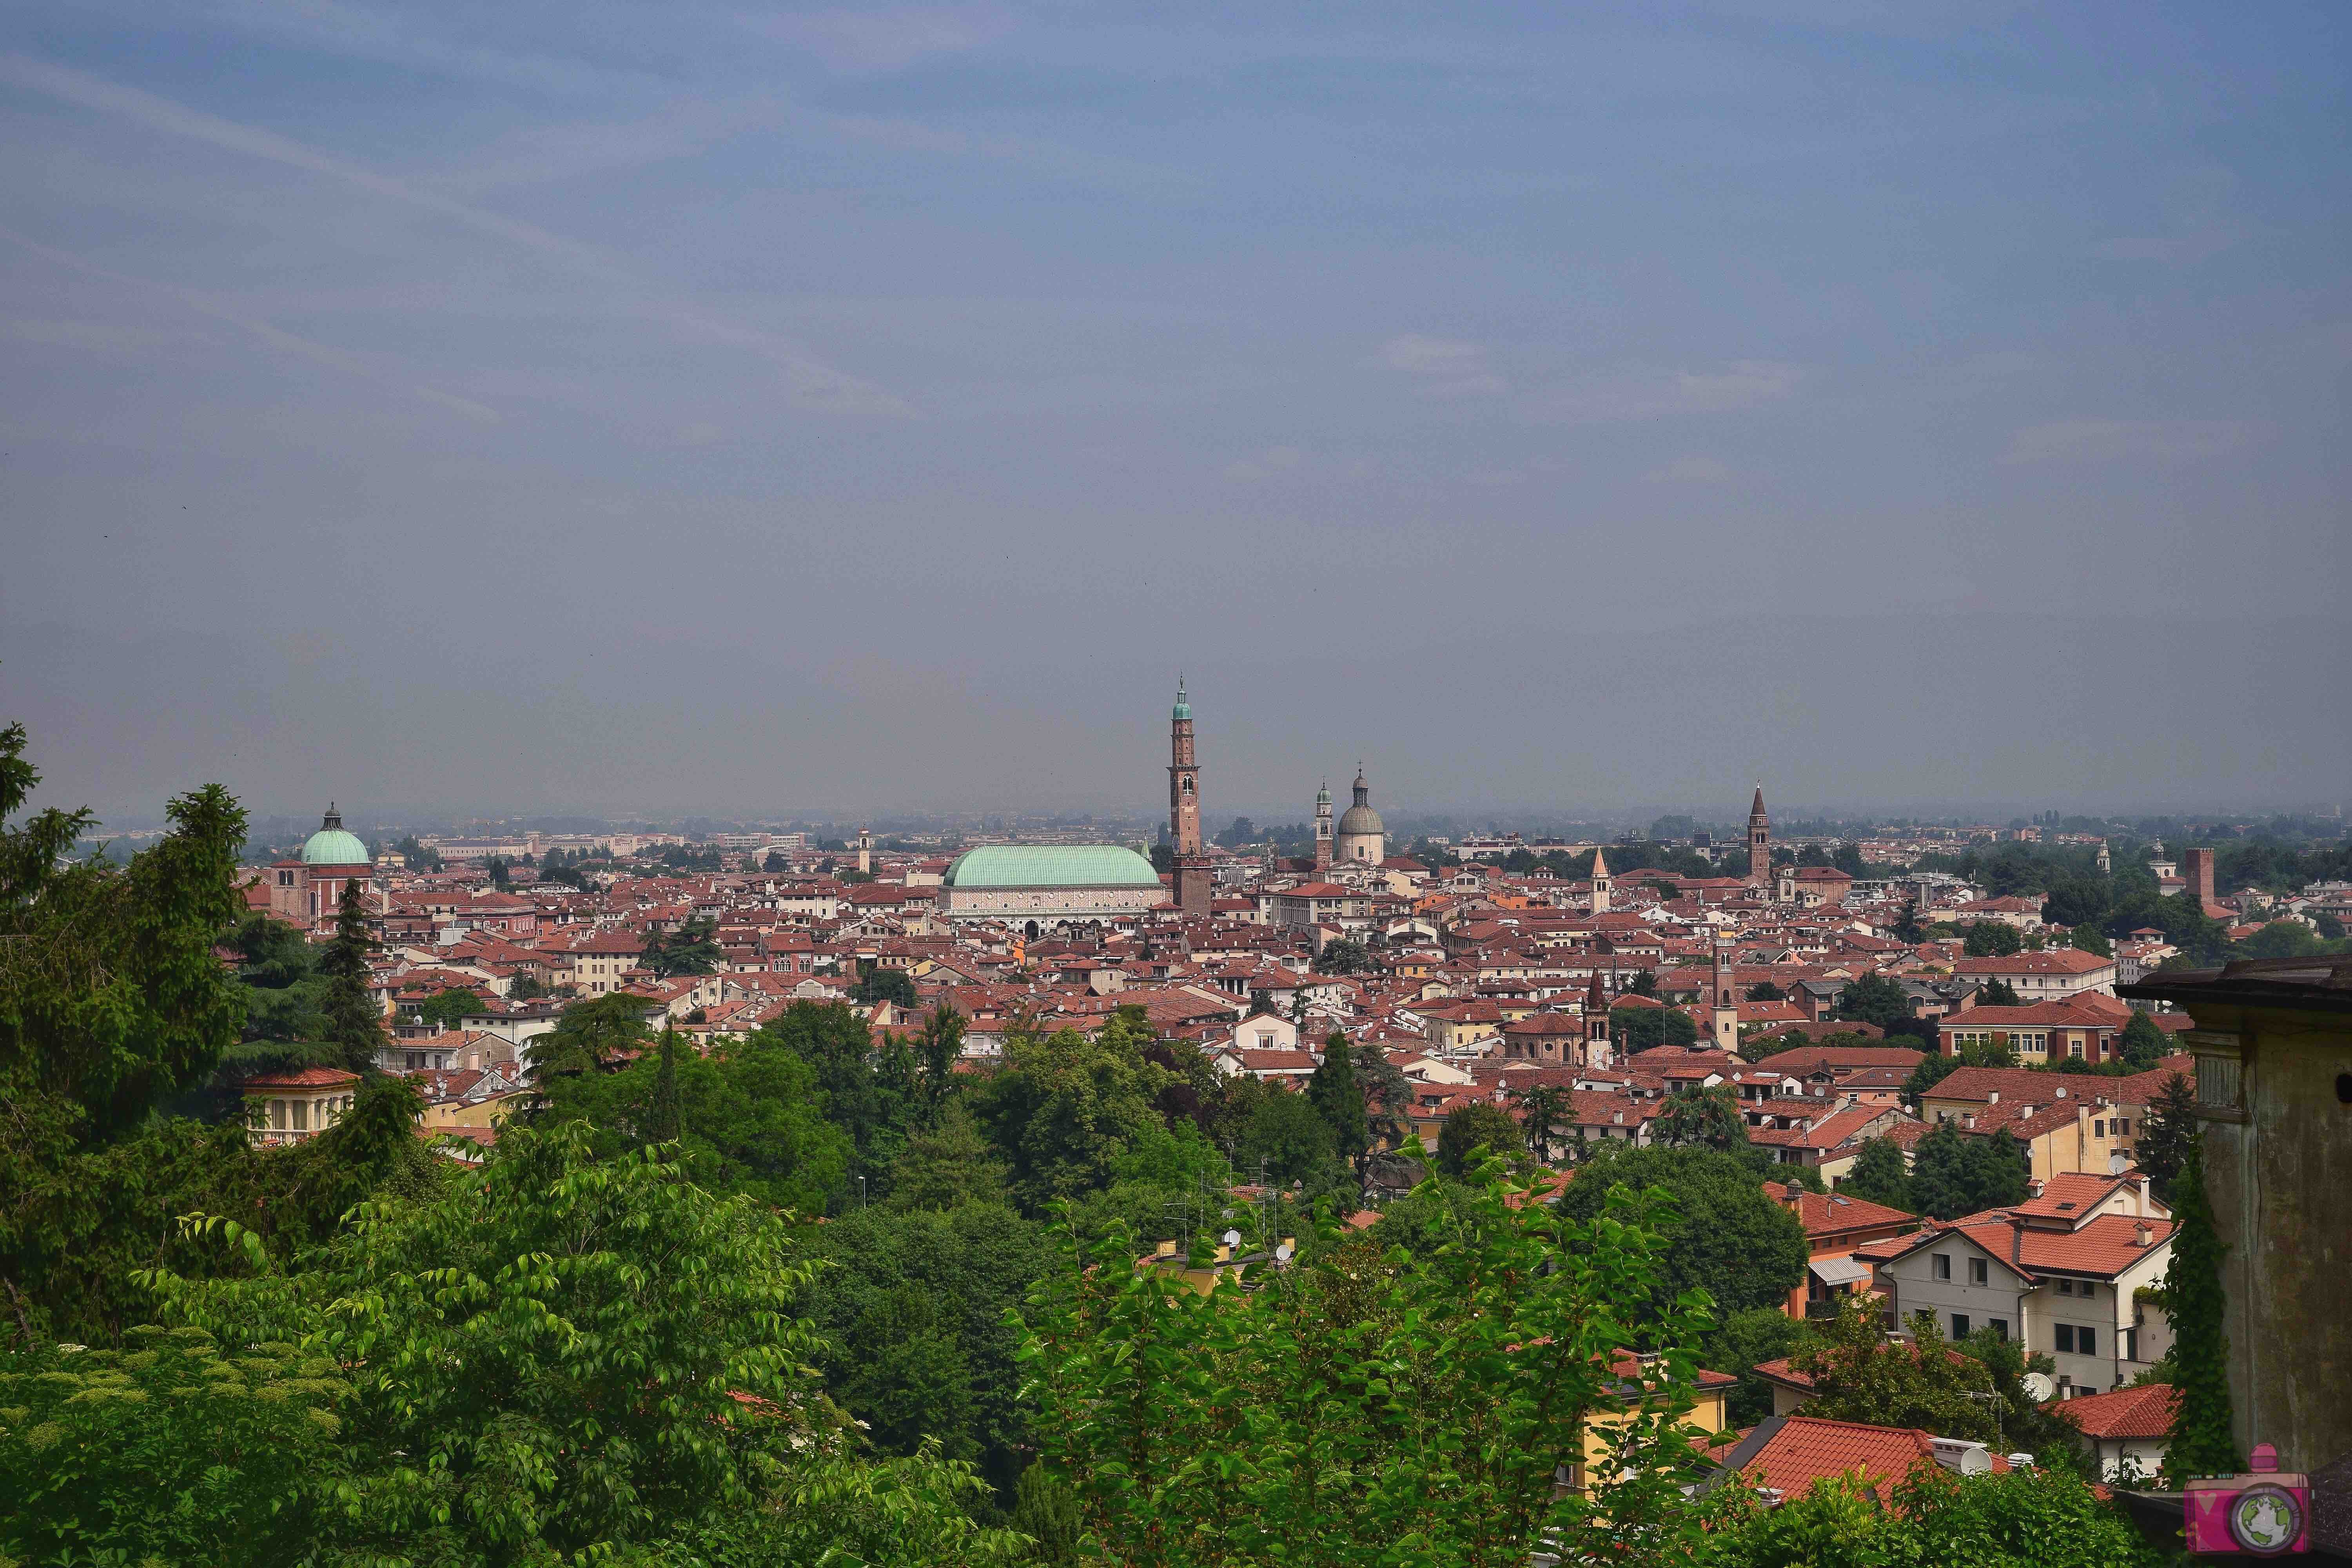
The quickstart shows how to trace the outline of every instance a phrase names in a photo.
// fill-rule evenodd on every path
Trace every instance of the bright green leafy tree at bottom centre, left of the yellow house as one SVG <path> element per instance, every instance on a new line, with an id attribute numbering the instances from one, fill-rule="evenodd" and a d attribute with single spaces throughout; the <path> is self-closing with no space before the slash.
<path id="1" fill-rule="evenodd" d="M 1454 1246 L 1385 1251 L 1334 1225 L 1315 1262 L 1207 1295 L 1131 1267 L 1131 1234 L 1068 1241 L 1033 1305 L 1030 1432 L 1091 1552 L 1131 1568 L 1693 1552 L 1691 1307 L 1668 1298 L 1668 1354 L 1618 1373 L 1625 1324 L 1658 1298 L 1642 1201 L 1599 1220 L 1512 1208 L 1491 1171 L 1472 1201 Z M 1244 1246 L 1263 1241 L 1251 1225 Z M 1590 1493 L 1555 1488 L 1588 1422 L 1613 1453 Z"/>

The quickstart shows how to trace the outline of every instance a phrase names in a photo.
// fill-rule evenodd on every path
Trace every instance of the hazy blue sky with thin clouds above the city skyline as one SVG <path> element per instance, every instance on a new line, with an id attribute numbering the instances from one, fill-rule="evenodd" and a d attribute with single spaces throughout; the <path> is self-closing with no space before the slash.
<path id="1" fill-rule="evenodd" d="M 2352 792 L 2343 5 L 0 19 L 59 797 Z"/>

